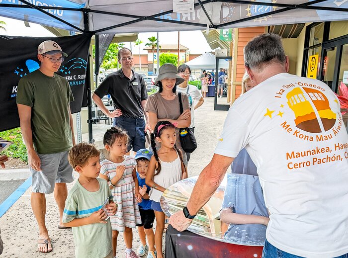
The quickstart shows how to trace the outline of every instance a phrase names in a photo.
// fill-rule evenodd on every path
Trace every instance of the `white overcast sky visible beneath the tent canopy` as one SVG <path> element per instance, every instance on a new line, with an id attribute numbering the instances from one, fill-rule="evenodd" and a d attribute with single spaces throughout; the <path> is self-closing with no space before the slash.
<path id="1" fill-rule="evenodd" d="M 35 36 L 45 37 L 54 36 L 51 32 L 46 30 L 39 24 L 29 23 L 30 27 L 26 27 L 23 21 L 10 19 L 6 17 L 0 17 L 0 20 L 6 22 L 6 31 L 1 30 L 1 35 L 8 36 Z M 140 53 L 146 54 L 147 51 L 143 50 L 145 44 L 149 42 L 148 38 L 155 36 L 156 32 L 151 33 L 139 33 L 138 37 L 143 43 L 140 45 Z M 175 44 L 177 45 L 177 31 L 176 32 L 160 32 L 159 33 L 159 44 Z M 204 54 L 205 52 L 212 51 L 205 37 L 200 30 L 195 31 L 180 31 L 180 45 L 183 45 L 189 49 L 190 54 Z M 126 47 L 130 47 L 130 43 L 126 43 Z M 132 43 L 133 54 L 139 54 L 139 47 L 134 46 Z"/>

